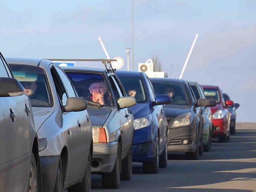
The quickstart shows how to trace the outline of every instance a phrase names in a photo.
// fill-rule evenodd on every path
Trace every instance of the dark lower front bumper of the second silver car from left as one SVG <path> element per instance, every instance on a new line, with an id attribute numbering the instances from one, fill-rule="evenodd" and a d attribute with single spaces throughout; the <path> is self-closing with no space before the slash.
<path id="1" fill-rule="evenodd" d="M 42 192 L 54 190 L 60 156 L 39 157 L 41 166 Z"/>

